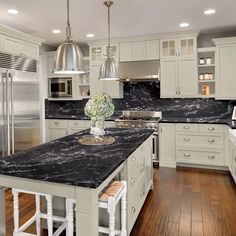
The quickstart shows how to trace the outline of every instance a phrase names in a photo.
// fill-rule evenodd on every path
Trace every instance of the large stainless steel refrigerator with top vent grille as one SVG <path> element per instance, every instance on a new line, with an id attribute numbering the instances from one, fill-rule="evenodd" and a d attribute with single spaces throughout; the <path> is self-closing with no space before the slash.
<path id="1" fill-rule="evenodd" d="M 37 61 L 0 53 L 0 157 L 40 143 Z"/>

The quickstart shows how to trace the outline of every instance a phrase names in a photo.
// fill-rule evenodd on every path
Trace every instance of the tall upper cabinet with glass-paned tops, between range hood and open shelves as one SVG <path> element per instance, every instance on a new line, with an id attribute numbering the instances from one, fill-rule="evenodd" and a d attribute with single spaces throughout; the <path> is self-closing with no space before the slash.
<path id="1" fill-rule="evenodd" d="M 161 97 L 196 97 L 196 37 L 161 40 Z"/>

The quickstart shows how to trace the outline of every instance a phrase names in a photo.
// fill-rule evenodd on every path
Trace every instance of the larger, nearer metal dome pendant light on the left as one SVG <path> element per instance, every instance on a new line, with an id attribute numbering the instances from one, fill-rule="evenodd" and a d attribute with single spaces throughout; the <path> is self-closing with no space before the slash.
<path id="1" fill-rule="evenodd" d="M 66 40 L 58 48 L 54 58 L 55 74 L 81 74 L 83 71 L 83 55 L 77 44 L 71 39 L 70 6 L 67 0 Z"/>

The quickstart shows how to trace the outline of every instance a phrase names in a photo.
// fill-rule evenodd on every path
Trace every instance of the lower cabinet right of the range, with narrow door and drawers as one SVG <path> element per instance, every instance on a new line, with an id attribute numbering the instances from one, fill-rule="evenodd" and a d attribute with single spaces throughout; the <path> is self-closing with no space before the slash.
<path id="1" fill-rule="evenodd" d="M 228 166 L 225 125 L 160 123 L 160 166 Z"/>

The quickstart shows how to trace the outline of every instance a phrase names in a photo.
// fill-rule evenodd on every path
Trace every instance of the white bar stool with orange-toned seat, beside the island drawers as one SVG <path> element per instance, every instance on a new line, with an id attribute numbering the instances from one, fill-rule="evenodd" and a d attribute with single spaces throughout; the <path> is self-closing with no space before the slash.
<path id="1" fill-rule="evenodd" d="M 114 181 L 108 187 L 106 187 L 99 196 L 98 206 L 100 208 L 107 209 L 109 214 L 109 228 L 99 226 L 98 231 L 100 233 L 108 234 L 109 236 L 127 236 L 127 229 L 126 229 L 126 194 L 127 194 L 127 183 L 126 181 Z M 121 229 L 115 230 L 115 211 L 118 202 L 121 200 Z M 71 218 L 74 218 L 74 211 L 72 204 L 75 204 L 75 200 L 68 199 L 70 201 L 68 207 L 70 206 L 71 209 L 68 210 L 72 213 Z M 70 234 L 68 236 L 73 236 L 74 232 L 74 225 L 73 220 L 72 223 L 68 223 L 68 227 Z"/>

